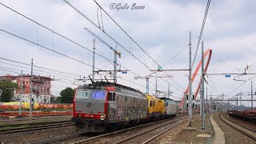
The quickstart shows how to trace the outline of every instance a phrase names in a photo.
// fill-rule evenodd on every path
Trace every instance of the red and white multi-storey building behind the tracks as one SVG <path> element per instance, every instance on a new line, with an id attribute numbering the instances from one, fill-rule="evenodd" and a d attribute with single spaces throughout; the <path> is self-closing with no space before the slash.
<path id="1" fill-rule="evenodd" d="M 21 80 L 22 80 L 22 102 L 30 102 L 30 77 L 31 75 L 18 75 L 16 81 L 18 83 L 18 90 L 15 93 L 15 101 L 20 101 L 21 97 Z M 33 101 L 50 103 L 50 77 L 33 75 Z"/>

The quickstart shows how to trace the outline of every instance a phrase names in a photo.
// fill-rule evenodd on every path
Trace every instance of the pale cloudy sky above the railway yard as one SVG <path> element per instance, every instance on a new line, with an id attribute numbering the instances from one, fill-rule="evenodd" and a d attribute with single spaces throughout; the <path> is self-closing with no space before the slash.
<path id="1" fill-rule="evenodd" d="M 51 88 L 54 95 L 58 95 L 67 86 L 76 88 L 79 84 L 90 83 L 90 80 L 77 82 L 77 79 L 88 78 L 88 75 L 92 74 L 92 50 L 95 37 L 86 29 L 108 45 L 96 38 L 95 70 L 114 69 L 114 51 L 110 50 L 109 46 L 116 48 L 121 53 L 118 65 L 121 65 L 121 70 L 128 70 L 127 74 L 118 73 L 118 83 L 146 92 L 145 77 L 151 74 L 154 77 L 150 77 L 150 94 L 154 94 L 157 75 L 152 74 L 152 70 L 157 70 L 158 64 L 163 70 L 189 68 L 189 34 L 191 31 L 193 59 L 207 3 L 206 0 L 97 0 L 103 10 L 130 35 L 133 41 L 103 10 L 98 8 L 93 0 L 67 1 L 80 10 L 84 17 L 64 1 L 0 0 L 0 2 L 34 21 L 0 5 L 0 74 L 17 75 L 21 74 L 21 70 L 25 74 L 30 74 L 30 63 L 33 58 L 34 65 L 41 66 L 34 67 L 34 74 L 54 78 Z M 131 10 L 133 5 L 144 6 L 144 9 Z M 116 6 L 124 6 L 125 9 L 118 10 Z M 233 98 L 241 91 L 242 98 L 249 99 L 251 81 L 255 94 L 256 75 L 249 74 L 256 71 L 254 6 L 256 2 L 253 0 L 210 2 L 202 41 L 204 50 L 212 50 L 205 87 L 207 94 L 211 94 L 213 98 L 222 94 L 225 99 Z M 193 72 L 201 54 L 200 44 Z M 248 75 L 234 75 L 245 73 L 245 69 Z M 225 75 L 210 75 L 222 73 L 232 73 L 232 75 L 230 78 L 226 78 Z M 158 90 L 166 92 L 169 86 L 172 91 L 170 98 L 180 100 L 188 86 L 188 71 L 166 71 L 157 74 L 160 77 L 169 76 L 169 78 L 157 79 Z M 192 85 L 193 93 L 198 86 L 200 74 L 201 69 Z M 96 79 L 105 76 L 113 78 L 113 75 L 105 72 L 95 74 Z M 134 78 L 138 76 L 141 78 Z M 249 103 L 244 102 L 244 104 Z"/>

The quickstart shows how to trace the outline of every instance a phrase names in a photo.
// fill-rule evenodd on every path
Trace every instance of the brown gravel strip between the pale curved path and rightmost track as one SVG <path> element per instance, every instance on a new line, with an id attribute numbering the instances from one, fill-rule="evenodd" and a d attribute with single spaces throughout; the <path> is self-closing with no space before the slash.
<path id="1" fill-rule="evenodd" d="M 251 138 L 246 137 L 237 130 L 234 130 L 232 127 L 226 125 L 226 123 L 222 122 L 222 120 L 218 118 L 218 114 L 214 114 L 213 118 L 224 132 L 227 144 L 255 143 L 255 141 Z"/>

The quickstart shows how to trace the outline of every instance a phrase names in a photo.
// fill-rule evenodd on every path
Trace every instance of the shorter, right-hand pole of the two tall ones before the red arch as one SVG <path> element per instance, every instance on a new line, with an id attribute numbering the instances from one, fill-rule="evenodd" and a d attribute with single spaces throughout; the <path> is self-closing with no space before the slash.
<path id="1" fill-rule="evenodd" d="M 203 41 L 202 41 L 202 130 L 205 130 L 205 70 L 203 62 Z"/>

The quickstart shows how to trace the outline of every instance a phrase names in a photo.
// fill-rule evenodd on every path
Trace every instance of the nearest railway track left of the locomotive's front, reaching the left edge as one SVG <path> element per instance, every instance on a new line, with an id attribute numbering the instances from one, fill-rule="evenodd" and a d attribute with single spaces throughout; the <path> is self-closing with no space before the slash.
<path id="1" fill-rule="evenodd" d="M 39 122 L 39 123 L 28 123 L 28 124 L 15 124 L 15 125 L 8 125 L 15 126 L 18 128 L 7 128 L 0 130 L 0 134 L 12 134 L 12 133 L 19 133 L 19 132 L 26 132 L 26 131 L 33 131 L 33 130 L 46 130 L 51 128 L 58 128 L 63 126 L 74 126 L 74 122 L 70 121 L 61 121 L 61 122 Z M 6 127 L 8 127 L 6 126 Z M 23 126 L 23 127 L 21 127 Z M 5 126 L 2 126 L 4 128 Z"/>

